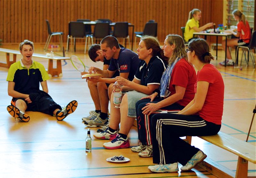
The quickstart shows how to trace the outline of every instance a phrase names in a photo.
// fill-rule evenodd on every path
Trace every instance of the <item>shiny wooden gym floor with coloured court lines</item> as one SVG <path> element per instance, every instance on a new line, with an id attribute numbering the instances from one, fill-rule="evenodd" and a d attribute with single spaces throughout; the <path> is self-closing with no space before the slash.
<path id="1" fill-rule="evenodd" d="M 45 54 L 43 45 L 35 45 L 35 52 Z M 1 48 L 18 50 L 18 44 L 4 44 Z M 76 54 L 84 60 L 86 66 L 102 67 L 102 63 L 92 62 L 84 55 L 83 46 L 78 45 Z M 215 54 L 215 51 L 212 52 Z M 56 51 L 56 54 L 61 54 Z M 218 51 L 218 61 L 213 64 L 218 68 L 225 83 L 224 113 L 221 131 L 241 140 L 246 140 L 255 107 L 255 69 L 252 63 L 242 70 L 232 66 L 223 67 L 218 63 L 223 60 L 224 52 Z M 222 58 L 221 58 L 222 56 Z M 234 56 L 234 50 L 232 51 Z M 241 55 L 240 55 L 241 56 Z M 254 55 L 255 56 L 255 55 Z M 21 56 L 18 55 L 17 59 Z M 48 61 L 34 58 L 46 68 Z M 0 53 L 0 61 L 5 61 L 5 53 Z M 49 94 L 61 106 L 71 100 L 78 101 L 76 111 L 63 121 L 39 112 L 28 112 L 30 121 L 21 123 L 15 121 L 6 110 L 11 97 L 7 94 L 8 68 L 0 67 L 0 177 L 33 177 L 33 178 L 83 178 L 83 177 L 215 177 L 200 167 L 189 173 L 154 174 L 148 170 L 153 165 L 152 158 L 140 158 L 130 149 L 106 150 L 102 147 L 106 140 L 95 139 L 92 136 L 92 152 L 85 152 L 85 137 L 87 127 L 81 118 L 94 110 L 92 98 L 85 80 L 80 78 L 70 61 L 62 63 L 63 76 L 48 80 Z M 214 106 L 212 106 L 214 107 Z M 92 128 L 91 135 L 97 128 Z M 249 143 L 255 145 L 255 120 L 252 126 Z M 128 135 L 131 146 L 138 143 L 137 128 L 132 127 Z M 237 156 L 224 151 L 200 138 L 193 137 L 192 144 L 203 150 L 209 158 L 223 166 L 236 170 Z M 127 163 L 110 163 L 108 157 L 124 155 L 131 159 Z M 180 167 L 181 165 L 179 165 Z M 248 175 L 255 176 L 255 164 L 249 163 Z"/>

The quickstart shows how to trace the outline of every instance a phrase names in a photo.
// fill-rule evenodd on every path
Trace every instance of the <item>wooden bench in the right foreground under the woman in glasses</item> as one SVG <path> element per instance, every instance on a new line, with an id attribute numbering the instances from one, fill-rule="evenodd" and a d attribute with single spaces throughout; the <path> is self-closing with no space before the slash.
<path id="1" fill-rule="evenodd" d="M 256 148 L 254 145 L 239 140 L 233 136 L 219 132 L 212 136 L 199 136 L 203 140 L 210 142 L 224 150 L 232 152 L 238 156 L 236 173 L 225 166 L 213 161 L 210 158 L 204 159 L 198 166 L 220 178 L 245 178 L 248 172 L 248 161 L 256 163 Z M 221 156 L 221 155 L 219 155 Z"/>

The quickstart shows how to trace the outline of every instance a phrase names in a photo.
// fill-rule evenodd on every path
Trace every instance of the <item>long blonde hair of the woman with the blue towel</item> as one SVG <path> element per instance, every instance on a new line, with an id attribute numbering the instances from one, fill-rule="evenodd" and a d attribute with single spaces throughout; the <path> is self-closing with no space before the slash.
<path id="1" fill-rule="evenodd" d="M 166 38 L 167 38 L 167 43 L 169 45 L 172 45 L 172 44 L 175 45 L 175 48 L 172 51 L 172 57 L 169 59 L 169 62 L 168 62 L 169 65 L 171 65 L 177 57 L 179 58 L 183 57 L 185 58 L 185 60 L 188 60 L 183 38 L 180 35 L 174 35 L 174 34 L 169 34 L 166 36 Z"/>

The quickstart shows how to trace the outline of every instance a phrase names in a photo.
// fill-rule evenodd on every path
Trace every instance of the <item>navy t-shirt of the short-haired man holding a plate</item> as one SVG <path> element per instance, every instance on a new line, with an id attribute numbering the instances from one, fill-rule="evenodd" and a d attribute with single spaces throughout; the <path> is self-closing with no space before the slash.
<path id="1" fill-rule="evenodd" d="M 119 71 L 120 73 L 129 73 L 128 79 L 133 80 L 134 74 L 139 66 L 140 59 L 138 55 L 126 48 L 121 48 L 118 59 L 112 58 L 108 67 L 109 71 Z"/>

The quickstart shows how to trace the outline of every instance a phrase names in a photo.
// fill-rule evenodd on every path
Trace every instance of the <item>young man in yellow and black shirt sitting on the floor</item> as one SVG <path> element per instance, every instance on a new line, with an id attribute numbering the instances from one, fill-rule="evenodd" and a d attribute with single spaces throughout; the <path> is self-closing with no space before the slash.
<path id="1" fill-rule="evenodd" d="M 76 110 L 77 101 L 71 101 L 64 109 L 53 101 L 48 94 L 46 82 L 49 75 L 42 64 L 32 60 L 33 52 L 33 42 L 24 40 L 20 43 L 22 59 L 10 66 L 6 79 L 8 81 L 8 95 L 12 97 L 11 105 L 7 106 L 7 111 L 15 120 L 19 119 L 22 122 L 30 120 L 25 111 L 53 114 L 57 120 L 63 120 L 68 114 Z M 39 89 L 39 83 L 43 90 Z"/>

